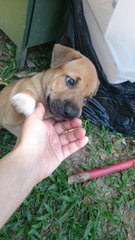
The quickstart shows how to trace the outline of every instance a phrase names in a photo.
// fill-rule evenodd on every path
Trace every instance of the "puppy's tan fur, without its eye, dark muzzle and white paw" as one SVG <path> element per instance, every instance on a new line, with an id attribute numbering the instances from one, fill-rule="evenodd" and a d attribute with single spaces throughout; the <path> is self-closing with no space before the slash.
<path id="1" fill-rule="evenodd" d="M 75 80 L 79 78 L 76 86 L 73 88 L 67 86 L 65 76 Z M 55 118 L 48 108 L 48 96 L 51 102 L 56 99 L 61 102 L 65 100 L 72 102 L 79 108 L 81 114 L 84 98 L 95 95 L 98 86 L 97 73 L 89 59 L 78 51 L 55 44 L 49 70 L 14 81 L 0 92 L 0 126 L 18 135 L 25 119 L 24 114 L 18 113 L 14 103 L 11 103 L 13 96 L 18 93 L 31 96 L 36 103 L 42 102 L 46 109 L 45 118 Z M 59 120 L 61 119 L 60 116 Z"/>

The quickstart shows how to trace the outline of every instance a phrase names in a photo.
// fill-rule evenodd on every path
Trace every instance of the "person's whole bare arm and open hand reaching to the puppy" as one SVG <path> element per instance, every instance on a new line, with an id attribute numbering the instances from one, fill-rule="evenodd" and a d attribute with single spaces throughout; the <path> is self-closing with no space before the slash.
<path id="1" fill-rule="evenodd" d="M 43 120 L 41 103 L 21 129 L 15 148 L 0 160 L 0 228 L 33 187 L 88 141 L 81 120 Z M 69 131 L 70 130 L 70 131 Z"/>

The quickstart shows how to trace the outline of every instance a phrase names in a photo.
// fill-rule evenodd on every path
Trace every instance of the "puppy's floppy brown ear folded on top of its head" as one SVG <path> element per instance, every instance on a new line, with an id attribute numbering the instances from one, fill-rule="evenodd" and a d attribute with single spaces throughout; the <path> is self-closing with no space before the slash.
<path id="1" fill-rule="evenodd" d="M 80 52 L 61 44 L 55 44 L 52 52 L 51 67 L 60 67 L 70 61 L 80 59 L 81 57 L 82 55 Z"/>

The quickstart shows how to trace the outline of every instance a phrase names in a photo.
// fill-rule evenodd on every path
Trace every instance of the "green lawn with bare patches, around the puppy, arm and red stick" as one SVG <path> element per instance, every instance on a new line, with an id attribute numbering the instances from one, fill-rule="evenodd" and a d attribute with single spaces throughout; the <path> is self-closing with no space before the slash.
<path id="1" fill-rule="evenodd" d="M 44 51 L 42 51 L 44 48 Z M 49 66 L 52 45 L 29 52 L 19 69 L 15 47 L 0 34 L 0 80 Z M 83 119 L 89 143 L 50 177 L 39 183 L 0 232 L 0 240 L 133 240 L 135 239 L 135 169 L 87 184 L 68 184 L 68 176 L 135 157 L 135 138 L 109 132 Z M 0 130 L 0 157 L 12 150 L 13 137 Z"/>

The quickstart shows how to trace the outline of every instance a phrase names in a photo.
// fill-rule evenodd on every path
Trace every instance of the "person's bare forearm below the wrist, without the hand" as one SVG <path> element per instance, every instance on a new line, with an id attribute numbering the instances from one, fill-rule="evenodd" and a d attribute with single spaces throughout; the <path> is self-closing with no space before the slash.
<path id="1" fill-rule="evenodd" d="M 20 206 L 34 186 L 29 159 L 13 150 L 0 160 L 0 228 Z"/>

